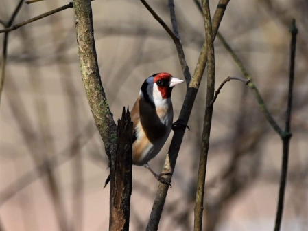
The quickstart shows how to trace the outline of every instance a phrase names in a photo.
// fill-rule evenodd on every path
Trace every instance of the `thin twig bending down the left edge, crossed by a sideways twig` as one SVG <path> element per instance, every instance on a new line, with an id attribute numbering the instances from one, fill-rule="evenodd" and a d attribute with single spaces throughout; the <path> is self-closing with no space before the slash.
<path id="1" fill-rule="evenodd" d="M 14 22 L 14 20 L 16 19 L 17 14 L 19 14 L 19 11 L 21 10 L 21 7 L 23 6 L 23 1 L 24 0 L 19 1 L 8 23 L 3 24 L 5 25 L 6 28 L 10 27 L 12 23 Z M 6 67 L 7 56 L 8 56 L 8 32 L 5 32 L 4 38 L 3 38 L 3 50 L 2 50 L 2 58 L 1 58 L 0 105 L 1 105 L 1 96 L 2 96 L 2 91 L 3 91 L 4 79 L 5 79 L 5 67 Z"/>

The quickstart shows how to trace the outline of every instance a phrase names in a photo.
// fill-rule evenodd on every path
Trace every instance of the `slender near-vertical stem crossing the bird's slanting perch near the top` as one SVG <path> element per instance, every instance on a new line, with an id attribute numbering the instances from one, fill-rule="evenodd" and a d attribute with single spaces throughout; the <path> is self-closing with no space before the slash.
<path id="1" fill-rule="evenodd" d="M 211 23 L 211 14 L 209 8 L 209 0 L 202 0 L 202 10 L 204 15 L 204 25 L 207 44 L 207 87 L 206 87 L 206 109 L 204 115 L 203 133 L 202 133 L 202 145 L 200 153 L 200 163 L 198 171 L 198 188 L 196 194 L 196 206 L 195 206 L 195 218 L 194 218 L 194 230 L 202 230 L 202 215 L 203 215 L 203 198 L 204 198 L 204 184 L 206 175 L 206 162 L 209 153 L 209 140 L 211 133 L 211 122 L 213 115 L 213 105 L 211 102 L 214 98 L 215 91 L 215 55 L 213 45 L 213 32 Z"/>

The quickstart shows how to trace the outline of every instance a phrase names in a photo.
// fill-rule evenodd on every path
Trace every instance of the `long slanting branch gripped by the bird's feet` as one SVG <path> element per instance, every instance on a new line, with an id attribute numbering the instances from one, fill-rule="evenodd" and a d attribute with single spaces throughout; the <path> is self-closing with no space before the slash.
<path id="1" fill-rule="evenodd" d="M 226 10 L 226 6 L 228 5 L 229 0 L 220 0 L 217 6 L 217 10 L 213 17 L 213 35 L 217 33 L 217 30 L 220 26 L 220 22 L 222 21 L 222 17 L 224 16 L 224 12 Z M 180 116 L 178 118 L 179 121 L 182 122 L 182 124 L 187 124 L 189 120 L 189 116 L 191 115 L 191 110 L 193 108 L 193 102 L 195 102 L 197 93 L 198 93 L 198 87 L 191 87 L 191 83 L 194 82 L 194 86 L 200 85 L 200 81 L 202 79 L 202 75 L 205 69 L 206 65 L 206 41 L 204 41 L 202 50 L 198 59 L 198 63 L 196 65 L 195 72 L 193 74 L 193 77 L 191 78 L 191 81 L 189 83 L 189 87 L 187 89 L 185 100 L 182 105 L 182 109 L 180 111 Z M 172 137 L 172 141 L 169 147 L 168 155 L 165 160 L 165 164 L 163 167 L 163 173 L 173 173 L 174 168 L 176 166 L 176 159 L 178 158 L 178 152 L 180 151 L 180 146 L 182 144 L 182 140 L 185 134 L 185 129 L 176 129 L 174 131 L 174 136 Z M 166 179 L 171 181 L 172 175 L 167 175 Z M 147 223 L 147 230 L 157 230 L 159 221 L 161 219 L 161 214 L 163 212 L 163 207 L 165 204 L 165 199 L 167 197 L 167 192 L 169 190 L 169 186 L 166 184 L 159 184 L 157 191 L 156 191 L 156 197 L 154 200 L 154 204 L 152 207 L 151 215 L 149 222 Z"/>

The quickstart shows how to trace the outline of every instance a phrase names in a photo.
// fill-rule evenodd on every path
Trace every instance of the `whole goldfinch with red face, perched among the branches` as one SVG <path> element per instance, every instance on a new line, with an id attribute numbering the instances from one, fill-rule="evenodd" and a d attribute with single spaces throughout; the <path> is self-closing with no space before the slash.
<path id="1" fill-rule="evenodd" d="M 169 184 L 162 175 L 154 173 L 148 162 L 163 148 L 172 129 L 174 111 L 171 92 L 174 86 L 184 83 L 167 72 L 148 77 L 139 91 L 130 118 L 133 122 L 132 164 L 144 166 L 163 184 Z M 110 177 L 106 180 L 108 184 Z"/>

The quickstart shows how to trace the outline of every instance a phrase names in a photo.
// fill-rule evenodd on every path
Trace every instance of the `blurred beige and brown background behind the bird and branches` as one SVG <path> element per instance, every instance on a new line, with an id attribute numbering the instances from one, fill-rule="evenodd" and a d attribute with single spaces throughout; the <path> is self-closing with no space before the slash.
<path id="1" fill-rule="evenodd" d="M 0 0 L 8 21 L 17 0 Z M 211 2 L 213 16 L 218 1 Z M 23 5 L 15 23 L 69 3 Z M 148 0 L 171 26 L 167 1 Z M 193 0 L 175 1 L 191 74 L 204 41 L 204 23 Z M 132 108 L 148 76 L 169 72 L 184 79 L 174 43 L 140 1 L 95 0 L 93 21 L 100 74 L 114 118 Z M 299 29 L 292 111 L 292 141 L 282 230 L 308 230 L 308 2 L 232 0 L 220 32 L 243 61 L 270 112 L 285 124 L 289 23 Z M 1 50 L 3 34 L 0 34 Z M 216 89 L 227 76 L 243 77 L 215 40 Z M 159 230 L 192 230 L 206 96 L 206 74 L 178 155 Z M 174 89 L 174 119 L 185 97 Z M 170 140 L 150 162 L 159 173 Z M 204 227 L 272 230 L 279 192 L 282 144 L 250 89 L 226 83 L 211 129 Z M 80 74 L 73 9 L 10 32 L 0 107 L 0 230 L 108 230 L 109 174 Z M 130 230 L 145 230 L 158 182 L 133 167 Z"/>

